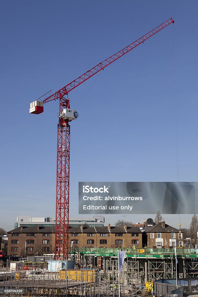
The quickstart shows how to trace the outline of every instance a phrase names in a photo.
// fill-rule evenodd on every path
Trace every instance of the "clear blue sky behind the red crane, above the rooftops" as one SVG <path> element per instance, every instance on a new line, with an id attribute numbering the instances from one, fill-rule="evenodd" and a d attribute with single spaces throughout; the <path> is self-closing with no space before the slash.
<path id="1" fill-rule="evenodd" d="M 0 227 L 11 230 L 21 214 L 55 216 L 58 102 L 39 116 L 30 102 L 170 17 L 174 25 L 69 93 L 79 113 L 70 217 L 82 216 L 79 181 L 198 181 L 197 9 L 197 1 L 1 1 Z M 183 228 L 191 219 L 163 217 Z"/>

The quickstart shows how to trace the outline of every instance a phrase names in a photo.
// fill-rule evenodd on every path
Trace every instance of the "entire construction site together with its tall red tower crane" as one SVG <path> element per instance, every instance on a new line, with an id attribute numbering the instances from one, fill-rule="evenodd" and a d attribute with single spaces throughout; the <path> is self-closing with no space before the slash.
<path id="1" fill-rule="evenodd" d="M 47 92 L 30 105 L 31 114 L 43 112 L 45 103 L 58 100 L 56 228 L 54 259 L 17 262 L 1 261 L 1 296 L 93 296 L 128 297 L 153 295 L 150 286 L 159 279 L 194 279 L 198 273 L 198 250 L 174 248 L 69 248 L 69 169 L 70 125 L 78 118 L 70 108 L 68 93 L 145 42 L 168 25 L 168 19 L 119 52 L 97 64 L 83 75 L 52 94 Z M 44 98 L 43 98 L 44 97 Z M 30 242 L 31 243 L 31 242 Z M 15 242 L 15 244 L 18 244 Z M 176 248 L 176 249 L 175 249 Z M 122 267 L 119 252 L 125 252 Z M 178 263 L 176 262 L 176 259 Z M 14 264 L 14 265 L 13 265 Z M 194 280 L 193 280 L 194 281 Z M 194 281 L 195 282 L 195 281 Z M 198 292 L 198 284 L 186 286 L 186 292 Z M 157 292 L 155 292 L 157 296 Z"/>

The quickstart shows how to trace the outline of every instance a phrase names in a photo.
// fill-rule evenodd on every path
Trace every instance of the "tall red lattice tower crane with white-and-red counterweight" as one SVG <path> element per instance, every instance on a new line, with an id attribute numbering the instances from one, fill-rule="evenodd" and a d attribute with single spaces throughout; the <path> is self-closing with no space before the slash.
<path id="1" fill-rule="evenodd" d="M 79 76 L 62 89 L 45 98 L 43 101 L 34 101 L 30 104 L 30 113 L 39 114 L 43 112 L 43 103 L 59 99 L 59 123 L 57 138 L 57 174 L 56 174 L 56 239 L 55 239 L 55 260 L 68 259 L 69 247 L 69 154 L 70 154 L 70 125 L 69 122 L 77 119 L 76 110 L 70 109 L 67 94 L 83 83 L 94 74 L 104 69 L 140 43 L 164 29 L 174 20 L 170 18 L 155 29 L 146 33 L 138 40 L 126 46 L 119 52 L 100 62 L 83 75 Z M 46 95 L 46 94 L 45 94 Z M 66 96 L 66 98 L 64 97 Z M 41 97 L 40 97 L 41 98 Z M 39 99 L 40 99 L 39 98 Z"/>

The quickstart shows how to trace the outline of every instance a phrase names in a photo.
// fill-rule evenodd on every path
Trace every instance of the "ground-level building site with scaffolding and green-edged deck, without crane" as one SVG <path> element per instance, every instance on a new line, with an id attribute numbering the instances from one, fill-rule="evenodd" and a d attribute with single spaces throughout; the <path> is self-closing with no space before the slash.
<path id="1" fill-rule="evenodd" d="M 150 295 L 147 284 L 178 278 L 190 279 L 184 293 L 198 292 L 198 249 L 136 249 L 126 251 L 120 274 L 120 296 Z M 1 264 L 1 296 L 118 296 L 118 250 L 83 249 L 69 255 L 73 260 Z M 74 262 L 74 269 L 68 263 Z M 64 269 L 62 268 L 64 267 Z M 196 280 L 195 280 L 196 279 Z M 195 283 L 196 282 L 196 283 Z M 183 283 L 182 283 L 183 284 Z"/>

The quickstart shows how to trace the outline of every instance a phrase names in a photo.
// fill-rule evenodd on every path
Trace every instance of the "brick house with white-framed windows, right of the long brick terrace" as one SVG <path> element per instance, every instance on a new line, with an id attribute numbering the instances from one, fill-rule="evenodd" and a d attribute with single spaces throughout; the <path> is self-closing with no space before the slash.
<path id="1" fill-rule="evenodd" d="M 145 245 L 151 248 L 183 247 L 183 233 L 165 222 L 145 230 Z"/>

